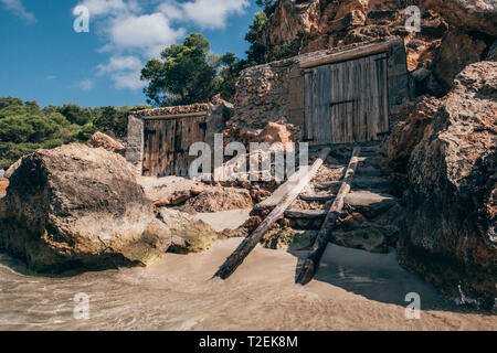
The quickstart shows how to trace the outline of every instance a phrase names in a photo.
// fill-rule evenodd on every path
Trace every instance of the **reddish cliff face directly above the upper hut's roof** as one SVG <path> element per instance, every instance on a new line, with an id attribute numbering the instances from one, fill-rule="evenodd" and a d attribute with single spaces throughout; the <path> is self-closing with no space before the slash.
<path id="1" fill-rule="evenodd" d="M 403 38 L 408 64 L 415 69 L 430 63 L 448 26 L 437 13 L 423 11 L 421 33 L 405 30 L 405 9 L 422 0 L 282 0 L 261 35 L 266 45 L 287 45 L 305 33 L 302 53 L 370 42 L 387 36 Z M 430 8 L 426 8 L 430 9 Z M 409 46 L 413 42 L 415 49 Z"/>

